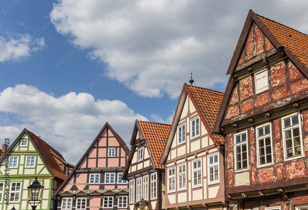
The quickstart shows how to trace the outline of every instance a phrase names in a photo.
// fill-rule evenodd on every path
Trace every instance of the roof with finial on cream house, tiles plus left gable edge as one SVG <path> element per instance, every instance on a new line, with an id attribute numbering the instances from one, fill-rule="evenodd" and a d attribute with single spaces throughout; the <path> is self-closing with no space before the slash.
<path id="1" fill-rule="evenodd" d="M 224 144 L 223 136 L 212 132 L 223 95 L 224 93 L 219 91 L 213 91 L 202 87 L 194 87 L 184 83 L 180 99 L 176 107 L 175 115 L 172 120 L 170 132 L 168 134 L 166 146 L 164 148 L 163 155 L 161 155 L 160 158 L 160 164 L 165 164 L 167 160 L 173 136 L 176 133 L 177 124 L 180 119 L 180 113 L 183 109 L 187 96 L 192 101 L 196 111 L 198 112 L 201 122 L 205 126 L 205 129 L 208 132 L 210 138 L 213 140 L 214 144 L 216 146 Z"/>

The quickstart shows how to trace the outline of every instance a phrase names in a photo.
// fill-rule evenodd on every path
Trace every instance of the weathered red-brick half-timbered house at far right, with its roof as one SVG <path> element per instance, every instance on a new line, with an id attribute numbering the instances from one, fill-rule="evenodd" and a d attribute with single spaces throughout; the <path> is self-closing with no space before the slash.
<path id="1" fill-rule="evenodd" d="M 249 11 L 214 131 L 233 209 L 308 208 L 308 36 Z"/>

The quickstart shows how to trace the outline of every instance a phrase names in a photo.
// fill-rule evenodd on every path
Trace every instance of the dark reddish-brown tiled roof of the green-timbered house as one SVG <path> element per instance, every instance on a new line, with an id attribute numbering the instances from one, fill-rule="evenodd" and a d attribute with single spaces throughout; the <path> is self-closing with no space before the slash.
<path id="1" fill-rule="evenodd" d="M 43 160 L 50 168 L 51 172 L 59 179 L 65 180 L 67 176 L 65 176 L 63 170 L 60 168 L 59 164 L 55 160 L 54 155 L 52 155 L 49 150 L 53 151 L 56 155 L 58 155 L 60 158 L 64 160 L 63 156 L 54 148 L 52 148 L 49 144 L 47 144 L 45 141 L 34 135 L 34 133 L 30 131 L 28 131 L 28 133 L 30 135 L 30 138 L 34 142 L 36 148 L 39 150 L 39 153 L 42 155 Z"/>

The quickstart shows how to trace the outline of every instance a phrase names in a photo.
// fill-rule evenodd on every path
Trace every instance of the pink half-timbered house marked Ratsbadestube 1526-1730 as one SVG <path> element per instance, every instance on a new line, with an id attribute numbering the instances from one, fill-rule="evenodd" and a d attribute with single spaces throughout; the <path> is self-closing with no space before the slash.
<path id="1" fill-rule="evenodd" d="M 128 182 L 121 180 L 129 149 L 106 123 L 55 192 L 58 210 L 128 209 Z"/>

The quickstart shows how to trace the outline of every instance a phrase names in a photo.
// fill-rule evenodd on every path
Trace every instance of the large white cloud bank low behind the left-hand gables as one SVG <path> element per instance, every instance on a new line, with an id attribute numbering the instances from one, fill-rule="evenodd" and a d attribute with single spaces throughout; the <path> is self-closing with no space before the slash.
<path id="1" fill-rule="evenodd" d="M 24 84 L 0 93 L 0 133 L 11 143 L 27 128 L 75 164 L 108 122 L 129 147 L 136 119 L 147 121 L 119 100 L 95 100 L 70 92 L 59 98 Z M 74 158 L 72 158 L 74 157 Z"/>

